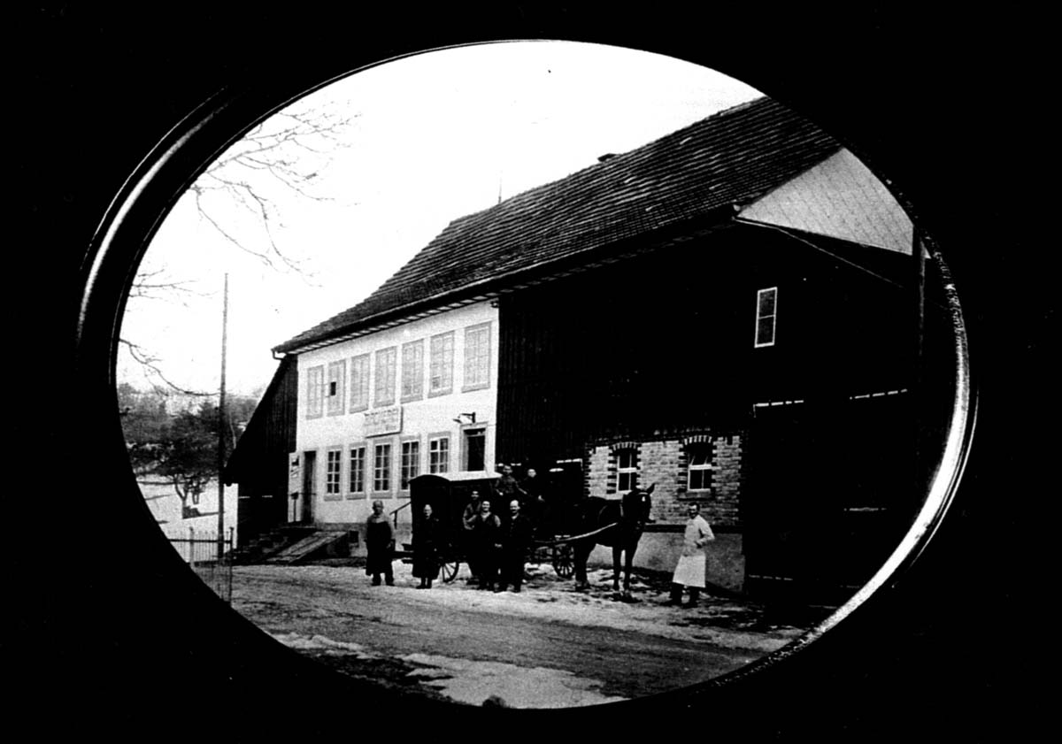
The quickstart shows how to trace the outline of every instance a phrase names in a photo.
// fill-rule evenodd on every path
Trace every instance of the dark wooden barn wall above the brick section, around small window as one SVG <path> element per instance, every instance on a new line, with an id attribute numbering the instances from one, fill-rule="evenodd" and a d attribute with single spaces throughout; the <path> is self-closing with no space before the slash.
<path id="1" fill-rule="evenodd" d="M 499 462 L 548 464 L 582 456 L 590 442 L 737 430 L 758 401 L 906 386 L 909 258 L 855 254 L 869 271 L 734 226 L 506 295 Z M 778 288 L 777 340 L 755 349 L 756 291 L 766 287 Z"/>

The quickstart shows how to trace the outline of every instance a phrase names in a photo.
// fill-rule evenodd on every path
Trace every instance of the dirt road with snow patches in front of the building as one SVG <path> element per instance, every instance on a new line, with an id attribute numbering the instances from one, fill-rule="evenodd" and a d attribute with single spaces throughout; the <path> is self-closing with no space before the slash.
<path id="1" fill-rule="evenodd" d="M 632 698 L 705 681 L 801 635 L 763 610 L 709 598 L 665 607 L 666 587 L 634 585 L 613 599 L 604 571 L 576 592 L 533 568 L 519 594 L 464 581 L 421 591 L 408 567 L 372 587 L 354 567 L 240 567 L 233 605 L 289 646 L 337 671 L 479 705 L 556 708 Z"/>

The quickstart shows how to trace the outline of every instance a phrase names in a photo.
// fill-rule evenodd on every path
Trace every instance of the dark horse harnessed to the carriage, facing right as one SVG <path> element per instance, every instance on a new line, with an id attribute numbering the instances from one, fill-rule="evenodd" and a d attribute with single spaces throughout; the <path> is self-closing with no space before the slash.
<path id="1" fill-rule="evenodd" d="M 646 490 L 634 487 L 622 499 L 601 499 L 592 497 L 584 499 L 577 508 L 577 533 L 586 537 L 573 541 L 576 564 L 576 588 L 586 589 L 586 560 L 595 546 L 610 546 L 613 563 L 613 590 L 619 592 L 620 554 L 626 554 L 626 573 L 623 576 L 623 598 L 631 596 L 631 566 L 634 563 L 634 551 L 638 548 L 641 532 L 646 522 L 653 521 L 649 512 L 652 508 L 652 492 L 656 484 Z M 602 529 L 604 527 L 604 529 Z M 600 532 L 598 532 L 600 530 Z M 587 534 L 589 533 L 589 534 Z"/>

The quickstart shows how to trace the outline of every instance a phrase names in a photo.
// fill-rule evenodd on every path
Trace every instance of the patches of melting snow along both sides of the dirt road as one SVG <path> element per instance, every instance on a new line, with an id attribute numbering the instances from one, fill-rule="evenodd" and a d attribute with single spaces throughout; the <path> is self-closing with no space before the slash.
<path id="1" fill-rule="evenodd" d="M 238 573 L 249 576 L 277 575 L 335 588 L 367 588 L 364 569 L 343 566 L 245 566 Z M 398 591 L 404 602 L 443 608 L 482 608 L 484 611 L 534 618 L 543 622 L 563 622 L 586 627 L 632 630 L 669 639 L 706 645 L 744 650 L 754 657 L 777 651 L 801 637 L 807 628 L 770 625 L 763 621 L 755 606 L 737 600 L 702 594 L 701 606 L 666 606 L 668 584 L 652 576 L 632 575 L 632 602 L 622 602 L 612 589 L 612 569 L 587 571 L 590 589 L 575 590 L 570 578 L 559 577 L 549 565 L 529 565 L 529 581 L 520 593 L 481 591 L 468 584 L 467 567 L 462 566 L 457 579 L 436 582 L 432 589 L 416 590 L 418 579 L 408 564 L 395 561 L 395 586 L 372 591 Z M 238 581 L 238 579 L 237 579 Z M 336 657 L 380 660 L 381 657 L 358 643 L 337 641 L 325 636 L 296 633 L 273 634 L 277 641 L 302 652 Z M 592 706 L 621 697 L 600 692 L 602 681 L 580 677 L 563 670 L 527 668 L 498 661 L 474 661 L 441 655 L 415 653 L 398 657 L 408 662 L 410 677 L 438 690 L 458 703 L 482 705 L 492 696 L 514 708 L 569 708 Z"/>

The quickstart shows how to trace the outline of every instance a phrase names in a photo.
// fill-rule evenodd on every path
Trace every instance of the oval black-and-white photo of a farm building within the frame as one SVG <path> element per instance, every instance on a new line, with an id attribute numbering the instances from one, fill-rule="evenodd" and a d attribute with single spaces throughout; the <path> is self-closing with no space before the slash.
<path id="1" fill-rule="evenodd" d="M 205 581 L 339 673 L 515 708 L 704 682 L 925 529 L 967 405 L 929 245 L 836 138 L 703 67 L 391 62 L 167 217 L 121 329 L 131 464 Z"/>

